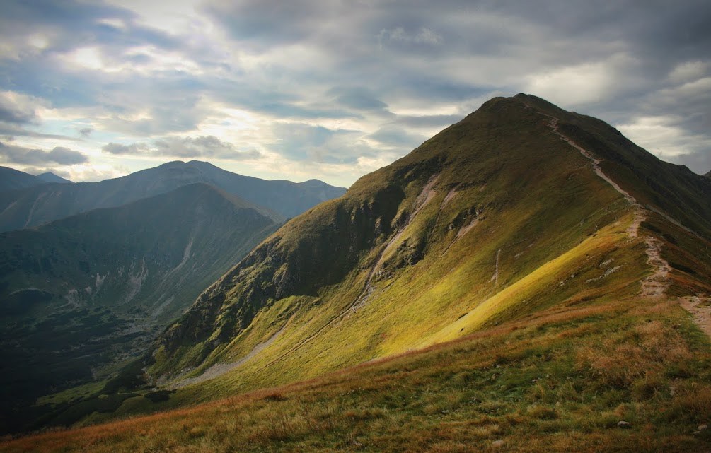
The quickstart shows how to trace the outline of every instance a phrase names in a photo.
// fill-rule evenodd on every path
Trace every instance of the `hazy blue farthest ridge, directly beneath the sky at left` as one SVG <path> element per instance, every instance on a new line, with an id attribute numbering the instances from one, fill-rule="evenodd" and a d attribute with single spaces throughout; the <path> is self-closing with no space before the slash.
<path id="1" fill-rule="evenodd" d="M 112 180 L 1 193 L 0 231 L 33 227 L 91 209 L 117 207 L 198 182 L 272 209 L 284 218 L 294 217 L 345 192 L 325 183 L 267 181 L 237 175 L 196 160 L 171 162 Z"/>

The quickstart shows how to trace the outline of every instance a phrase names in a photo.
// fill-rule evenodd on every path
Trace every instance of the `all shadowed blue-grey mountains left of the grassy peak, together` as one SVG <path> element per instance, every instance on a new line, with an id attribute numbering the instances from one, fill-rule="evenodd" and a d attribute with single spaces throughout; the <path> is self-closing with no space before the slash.
<path id="1" fill-rule="evenodd" d="M 16 185 L 39 178 L 6 170 Z M 0 233 L 0 360 L 13 372 L 0 376 L 0 396 L 15 417 L 0 428 L 23 426 L 39 396 L 112 376 L 286 214 L 344 191 L 193 161 L 2 192 L 11 231 Z"/>

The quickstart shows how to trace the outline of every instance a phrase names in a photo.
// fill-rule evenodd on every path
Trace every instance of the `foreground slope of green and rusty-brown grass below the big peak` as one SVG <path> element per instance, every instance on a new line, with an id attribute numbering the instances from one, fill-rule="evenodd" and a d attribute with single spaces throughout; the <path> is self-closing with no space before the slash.
<path id="1" fill-rule="evenodd" d="M 698 452 L 710 419 L 709 338 L 678 302 L 629 298 L 0 451 Z"/>

